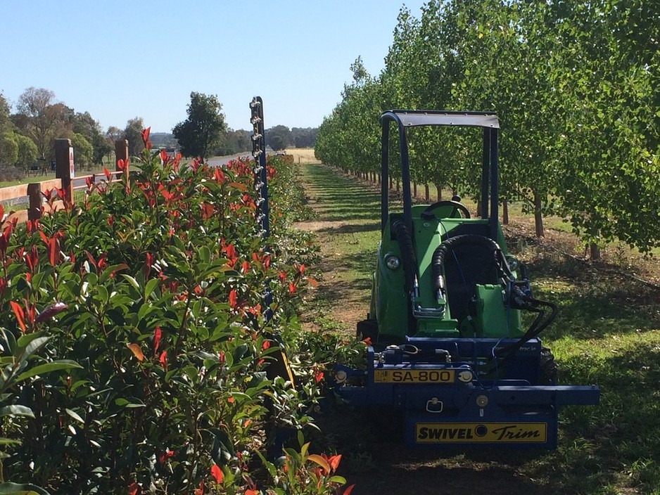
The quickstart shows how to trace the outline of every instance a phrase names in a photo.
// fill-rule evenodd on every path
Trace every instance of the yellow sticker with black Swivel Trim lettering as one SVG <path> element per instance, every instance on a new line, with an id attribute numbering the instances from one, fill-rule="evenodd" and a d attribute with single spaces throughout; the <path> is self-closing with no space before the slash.
<path id="1" fill-rule="evenodd" d="M 416 423 L 415 442 L 542 444 L 547 442 L 547 423 Z"/>

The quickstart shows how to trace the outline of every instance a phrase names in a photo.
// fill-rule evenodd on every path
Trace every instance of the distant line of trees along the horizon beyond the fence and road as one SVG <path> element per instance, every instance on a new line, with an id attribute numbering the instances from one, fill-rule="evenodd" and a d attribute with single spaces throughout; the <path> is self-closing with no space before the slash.
<path id="1" fill-rule="evenodd" d="M 112 165 L 114 141 L 126 139 L 129 154 L 139 155 L 146 127 L 142 117 L 134 117 L 125 127 L 110 126 L 106 131 L 89 112 L 76 112 L 56 100 L 53 91 L 30 87 L 18 98 L 12 112 L 0 93 L 0 180 L 18 179 L 30 170 L 46 171 L 55 159 L 54 141 L 71 139 L 79 167 Z M 228 129 L 217 96 L 191 93 L 188 118 L 179 122 L 172 134 L 151 133 L 154 148 L 180 150 L 186 157 L 208 158 L 252 150 L 252 131 Z M 318 129 L 278 125 L 266 130 L 267 144 L 275 150 L 314 146 Z"/>

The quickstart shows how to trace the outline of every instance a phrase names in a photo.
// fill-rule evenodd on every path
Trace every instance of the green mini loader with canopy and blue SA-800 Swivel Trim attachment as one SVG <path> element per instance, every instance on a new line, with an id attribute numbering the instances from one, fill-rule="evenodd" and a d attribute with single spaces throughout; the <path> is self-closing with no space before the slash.
<path id="1" fill-rule="evenodd" d="M 388 209 L 389 132 L 398 129 L 403 212 Z M 557 446 L 565 404 L 598 404 L 595 385 L 556 385 L 538 335 L 557 306 L 533 297 L 497 219 L 497 115 L 391 110 L 381 116 L 381 241 L 367 319 L 366 368 L 336 366 L 334 392 L 391 408 L 410 446 Z M 479 218 L 455 196 L 412 205 L 407 134 L 420 126 L 483 131 Z M 438 157 L 438 159 L 442 159 Z M 523 330 L 521 313 L 535 319 Z"/>

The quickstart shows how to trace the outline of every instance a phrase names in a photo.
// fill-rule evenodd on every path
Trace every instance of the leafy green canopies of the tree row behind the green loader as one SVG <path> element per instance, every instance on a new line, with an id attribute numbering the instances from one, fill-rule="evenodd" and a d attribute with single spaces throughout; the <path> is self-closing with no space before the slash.
<path id="1" fill-rule="evenodd" d="M 647 252 L 660 245 L 658 5 L 429 0 L 420 18 L 404 7 L 383 71 L 369 76 L 360 58 L 351 67 L 317 158 L 378 172 L 369 156 L 383 110 L 495 111 L 501 197 L 535 213 L 538 235 L 543 214 L 561 214 L 586 242 Z M 469 139 L 410 138 L 414 180 L 478 198 Z"/>

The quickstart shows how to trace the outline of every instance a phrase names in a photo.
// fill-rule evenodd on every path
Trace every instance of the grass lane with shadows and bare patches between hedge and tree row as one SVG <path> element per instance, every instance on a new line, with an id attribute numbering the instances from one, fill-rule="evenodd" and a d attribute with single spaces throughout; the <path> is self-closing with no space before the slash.
<path id="1" fill-rule="evenodd" d="M 315 325 L 353 334 L 369 307 L 379 192 L 322 165 L 302 170 L 316 216 L 302 226 L 322 249 Z M 560 306 L 542 335 L 560 383 L 595 383 L 602 404 L 563 409 L 550 452 L 411 452 L 383 439 L 377 422 L 344 424 L 348 437 L 326 441 L 345 454 L 345 474 L 359 482 L 354 494 L 436 493 L 440 484 L 450 494 L 660 494 L 660 291 L 536 240 L 509 247 L 527 264 L 535 296 Z"/>

